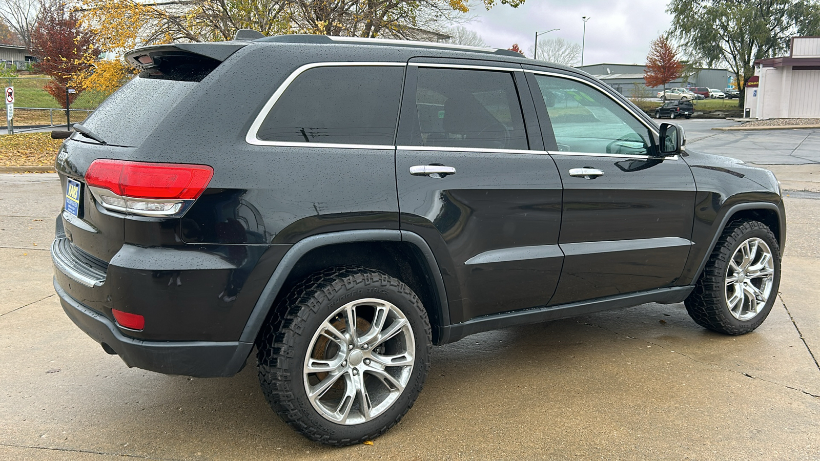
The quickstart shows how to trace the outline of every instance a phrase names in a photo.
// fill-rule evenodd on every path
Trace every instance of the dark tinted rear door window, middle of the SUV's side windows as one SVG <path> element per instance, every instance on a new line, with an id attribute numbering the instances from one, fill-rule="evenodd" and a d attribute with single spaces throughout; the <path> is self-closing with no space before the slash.
<path id="1" fill-rule="evenodd" d="M 412 145 L 526 149 L 512 74 L 420 68 Z"/>

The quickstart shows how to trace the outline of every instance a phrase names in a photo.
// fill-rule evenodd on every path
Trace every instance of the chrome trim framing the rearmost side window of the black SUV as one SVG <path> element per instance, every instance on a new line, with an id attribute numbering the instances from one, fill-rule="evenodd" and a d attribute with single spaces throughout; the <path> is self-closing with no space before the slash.
<path id="1" fill-rule="evenodd" d="M 376 61 L 376 62 L 311 62 L 309 64 L 305 64 L 304 66 L 299 66 L 298 69 L 293 71 L 288 78 L 285 79 L 282 84 L 279 85 L 279 88 L 271 95 L 271 98 L 267 100 L 264 106 L 262 106 L 262 110 L 259 111 L 256 118 L 253 120 L 250 129 L 248 129 L 248 134 L 245 135 L 245 142 L 248 144 L 256 145 L 256 146 L 280 146 L 280 147 L 321 147 L 321 148 L 378 148 L 378 149 L 393 149 L 395 148 L 392 144 L 332 144 L 332 143 L 294 143 L 289 141 L 266 141 L 264 139 L 259 139 L 257 137 L 257 133 L 259 128 L 262 126 L 262 122 L 265 121 L 267 115 L 271 112 L 274 104 L 282 94 L 285 93 L 285 90 L 288 89 L 290 84 L 296 80 L 296 77 L 302 75 L 304 71 L 309 69 L 313 69 L 316 67 L 347 67 L 347 66 L 371 66 L 371 67 L 406 67 L 407 62 L 391 62 L 391 61 Z M 403 83 L 402 83 L 403 84 Z"/>

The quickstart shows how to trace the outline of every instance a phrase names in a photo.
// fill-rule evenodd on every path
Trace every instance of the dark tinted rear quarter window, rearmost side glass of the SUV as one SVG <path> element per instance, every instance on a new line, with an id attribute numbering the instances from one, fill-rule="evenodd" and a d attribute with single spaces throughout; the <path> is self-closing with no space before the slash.
<path id="1" fill-rule="evenodd" d="M 308 69 L 291 82 L 257 138 L 291 143 L 392 145 L 404 67 Z"/>

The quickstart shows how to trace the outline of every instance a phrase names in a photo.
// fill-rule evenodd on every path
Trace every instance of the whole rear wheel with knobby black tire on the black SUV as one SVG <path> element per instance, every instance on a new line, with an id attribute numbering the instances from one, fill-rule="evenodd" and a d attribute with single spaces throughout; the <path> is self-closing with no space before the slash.
<path id="1" fill-rule="evenodd" d="M 408 285 L 364 267 L 298 283 L 257 340 L 262 394 L 285 422 L 325 445 L 393 427 L 427 377 L 430 322 Z"/>

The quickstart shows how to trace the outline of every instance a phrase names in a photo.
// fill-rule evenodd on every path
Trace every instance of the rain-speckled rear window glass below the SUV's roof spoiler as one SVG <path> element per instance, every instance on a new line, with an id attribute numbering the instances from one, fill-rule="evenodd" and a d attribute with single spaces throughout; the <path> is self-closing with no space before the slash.
<path id="1" fill-rule="evenodd" d="M 107 98 L 83 125 L 107 144 L 139 147 L 197 84 L 143 72 Z"/>

